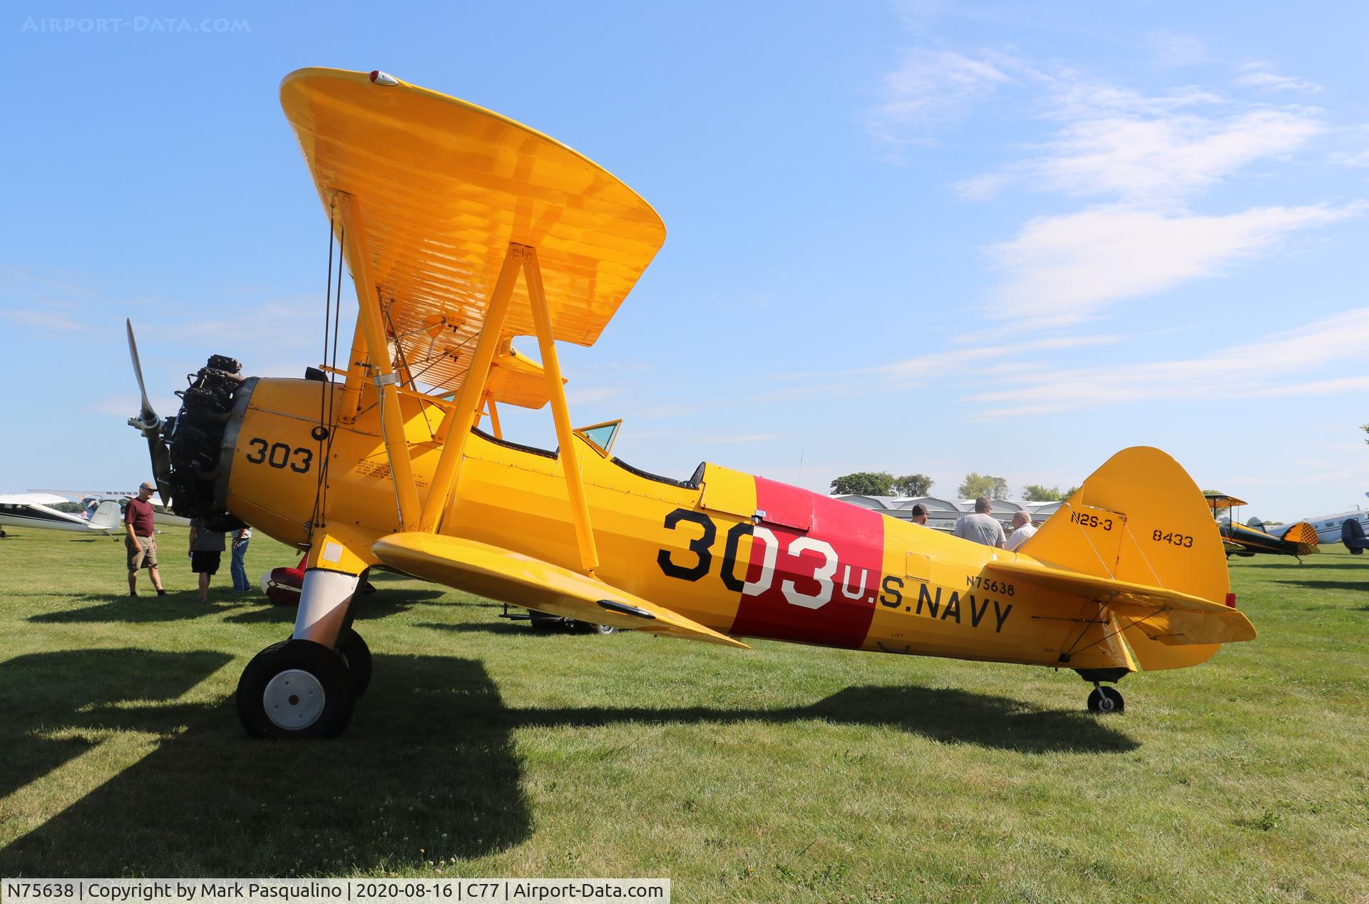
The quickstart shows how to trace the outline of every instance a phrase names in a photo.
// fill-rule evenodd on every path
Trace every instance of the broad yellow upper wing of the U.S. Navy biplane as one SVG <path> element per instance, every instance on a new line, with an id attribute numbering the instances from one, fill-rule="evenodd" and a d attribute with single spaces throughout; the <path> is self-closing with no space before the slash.
<path id="1" fill-rule="evenodd" d="M 611 173 L 475 104 L 303 68 L 281 84 L 281 105 L 324 210 L 340 192 L 357 200 L 386 330 L 430 386 L 460 388 L 509 242 L 537 248 L 553 336 L 593 345 L 665 241 L 661 218 Z M 534 334 L 520 282 L 501 338 Z"/>

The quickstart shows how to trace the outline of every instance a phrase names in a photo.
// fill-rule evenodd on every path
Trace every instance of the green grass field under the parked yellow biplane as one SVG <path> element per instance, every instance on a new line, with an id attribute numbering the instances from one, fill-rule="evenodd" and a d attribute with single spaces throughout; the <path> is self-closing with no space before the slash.
<path id="1" fill-rule="evenodd" d="M 1134 675 L 535 634 L 389 575 L 346 736 L 249 741 L 293 611 L 0 540 L 0 875 L 671 877 L 676 901 L 1369 901 L 1369 556 L 1233 560 L 1259 630 Z M 293 563 L 257 538 L 256 575 Z M 146 582 L 144 578 L 144 589 Z"/>

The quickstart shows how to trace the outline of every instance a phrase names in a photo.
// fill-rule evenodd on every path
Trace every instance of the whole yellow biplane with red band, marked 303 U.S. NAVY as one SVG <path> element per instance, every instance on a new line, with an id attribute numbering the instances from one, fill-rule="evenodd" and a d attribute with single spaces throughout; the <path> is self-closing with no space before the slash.
<path id="1" fill-rule="evenodd" d="M 1072 668 L 1099 712 L 1123 708 L 1102 682 L 1254 637 L 1202 493 L 1157 449 L 1113 456 L 1017 553 L 711 463 L 684 479 L 626 464 L 572 430 L 556 342 L 593 345 L 661 247 L 646 201 L 538 131 L 383 73 L 300 70 L 281 101 L 356 286 L 344 360 L 268 379 L 215 356 L 174 419 L 145 392 L 130 419 L 178 514 L 308 551 L 293 636 L 238 683 L 248 733 L 344 730 L 370 679 L 353 594 L 375 567 L 727 646 Z M 559 449 L 501 437 L 500 405 L 548 404 Z"/>

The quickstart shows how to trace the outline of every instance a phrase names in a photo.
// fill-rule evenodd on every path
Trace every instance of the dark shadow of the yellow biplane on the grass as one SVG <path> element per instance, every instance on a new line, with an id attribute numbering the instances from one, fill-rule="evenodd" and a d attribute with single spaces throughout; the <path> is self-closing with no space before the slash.
<path id="1" fill-rule="evenodd" d="M 152 753 L 0 849 L 0 874 L 335 874 L 504 851 L 533 831 L 512 740 L 526 726 L 827 720 L 1021 752 L 1138 746 L 1083 714 L 923 688 L 852 688 L 778 710 L 509 708 L 481 663 L 437 656 L 376 656 L 346 738 L 266 744 L 242 734 L 229 699 L 174 703 L 227 659 L 118 649 L 0 664 L 0 701 L 15 714 L 0 726 L 0 749 L 15 755 L 0 766 L 5 793 L 90 746 L 49 733 L 163 736 Z"/>

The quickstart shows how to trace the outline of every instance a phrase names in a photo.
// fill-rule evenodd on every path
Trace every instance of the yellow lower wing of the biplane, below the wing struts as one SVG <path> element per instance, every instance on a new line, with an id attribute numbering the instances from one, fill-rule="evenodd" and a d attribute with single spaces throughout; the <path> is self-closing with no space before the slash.
<path id="1" fill-rule="evenodd" d="M 486 542 L 401 533 L 381 537 L 371 552 L 382 563 L 413 577 L 491 600 L 596 625 L 749 649 L 741 641 L 598 578 Z"/>

